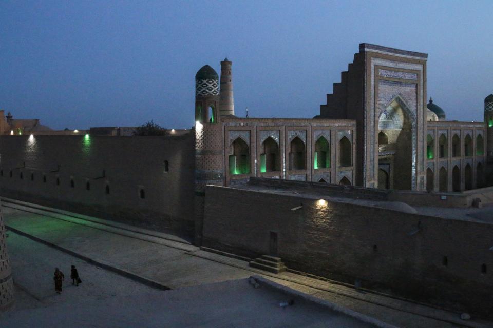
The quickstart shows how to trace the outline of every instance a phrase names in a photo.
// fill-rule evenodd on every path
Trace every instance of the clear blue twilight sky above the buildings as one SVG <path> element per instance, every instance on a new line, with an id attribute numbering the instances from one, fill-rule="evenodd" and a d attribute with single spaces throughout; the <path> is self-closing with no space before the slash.
<path id="1" fill-rule="evenodd" d="M 194 124 L 195 73 L 233 61 L 235 110 L 313 117 L 359 43 L 428 53 L 428 97 L 482 120 L 493 1 L 0 2 L 0 109 L 54 129 Z"/>

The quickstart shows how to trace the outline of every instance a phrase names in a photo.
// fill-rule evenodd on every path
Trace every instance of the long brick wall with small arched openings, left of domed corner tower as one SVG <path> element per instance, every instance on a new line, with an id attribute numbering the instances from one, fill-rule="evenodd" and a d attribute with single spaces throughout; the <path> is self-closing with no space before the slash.
<path id="1" fill-rule="evenodd" d="M 4 197 L 156 230 L 193 231 L 193 133 L 2 136 L 0 156 Z"/>

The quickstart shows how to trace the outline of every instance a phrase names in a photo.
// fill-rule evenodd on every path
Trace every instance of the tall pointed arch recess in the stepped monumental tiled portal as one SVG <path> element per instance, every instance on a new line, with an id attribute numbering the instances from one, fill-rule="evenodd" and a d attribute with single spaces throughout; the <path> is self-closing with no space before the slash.
<path id="1" fill-rule="evenodd" d="M 378 165 L 387 165 L 392 189 L 412 190 L 415 186 L 416 125 L 414 114 L 400 96 L 390 102 L 378 117 Z M 398 169 L 394 169 L 398 168 Z M 378 171 L 378 188 L 384 174 Z M 390 180 L 392 179 L 392 180 Z M 388 187 L 387 187 L 388 188 Z"/>

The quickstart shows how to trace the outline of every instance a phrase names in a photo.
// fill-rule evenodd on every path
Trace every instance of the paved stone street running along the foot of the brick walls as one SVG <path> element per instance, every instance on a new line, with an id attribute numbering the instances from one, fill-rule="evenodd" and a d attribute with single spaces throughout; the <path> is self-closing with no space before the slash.
<path id="1" fill-rule="evenodd" d="M 248 266 L 248 262 L 205 252 L 173 236 L 156 236 L 134 227 L 58 210 L 4 201 L 4 221 L 11 230 L 52 244 L 75 256 L 104 263 L 107 269 L 150 285 L 181 288 L 247 278 L 253 273 L 290 288 L 402 327 L 487 327 L 488 322 L 463 321 L 459 314 L 386 295 L 356 291 L 292 272 L 271 274 Z"/>

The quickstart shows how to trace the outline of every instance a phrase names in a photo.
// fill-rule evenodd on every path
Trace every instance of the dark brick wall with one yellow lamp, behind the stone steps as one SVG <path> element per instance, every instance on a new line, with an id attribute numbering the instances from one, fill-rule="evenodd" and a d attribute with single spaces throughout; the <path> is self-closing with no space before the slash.
<path id="1" fill-rule="evenodd" d="M 406 214 L 316 199 L 207 186 L 203 245 L 418 300 L 447 299 L 491 316 L 493 224 Z M 291 209 L 300 206 L 299 210 Z M 467 245 L 467 247 L 465 247 Z M 486 271 L 483 271 L 486 270 Z"/>

